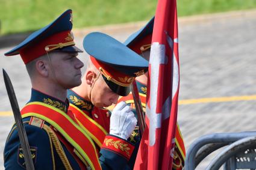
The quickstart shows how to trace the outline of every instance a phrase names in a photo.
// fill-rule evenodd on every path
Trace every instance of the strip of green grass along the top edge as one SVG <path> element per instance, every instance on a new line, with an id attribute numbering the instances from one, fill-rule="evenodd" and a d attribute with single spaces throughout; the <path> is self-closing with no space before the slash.
<path id="1" fill-rule="evenodd" d="M 157 0 L 0 0 L 1 35 L 42 28 L 67 9 L 72 9 L 74 28 L 149 20 Z M 245 10 L 255 0 L 179 0 L 178 16 Z"/>

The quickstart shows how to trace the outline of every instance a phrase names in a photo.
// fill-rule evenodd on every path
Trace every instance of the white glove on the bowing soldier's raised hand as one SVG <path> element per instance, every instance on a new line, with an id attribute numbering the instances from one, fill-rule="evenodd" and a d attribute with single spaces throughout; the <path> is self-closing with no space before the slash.
<path id="1" fill-rule="evenodd" d="M 127 140 L 137 124 L 131 107 L 125 102 L 116 105 L 110 117 L 110 135 Z"/>

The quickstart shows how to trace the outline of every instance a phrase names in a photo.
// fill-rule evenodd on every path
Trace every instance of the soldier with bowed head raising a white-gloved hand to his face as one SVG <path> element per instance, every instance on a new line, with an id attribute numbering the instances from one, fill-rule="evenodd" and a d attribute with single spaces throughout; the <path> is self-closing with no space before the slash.
<path id="1" fill-rule="evenodd" d="M 127 162 L 134 146 L 127 139 L 133 130 L 120 133 L 111 129 L 111 124 L 118 123 L 113 115 L 119 108 L 126 109 L 122 109 L 127 115 L 125 119 L 130 117 L 131 108 L 121 102 L 114 108 L 111 117 L 104 108 L 116 104 L 119 96 L 127 96 L 130 93 L 130 85 L 135 77 L 148 70 L 148 61 L 119 41 L 100 32 L 87 35 L 83 45 L 90 57 L 81 85 L 67 93 L 69 109 L 82 129 L 93 139 L 96 148 L 101 148 L 100 153 L 116 160 L 111 168 L 128 168 Z M 108 133 L 110 135 L 107 135 Z"/>

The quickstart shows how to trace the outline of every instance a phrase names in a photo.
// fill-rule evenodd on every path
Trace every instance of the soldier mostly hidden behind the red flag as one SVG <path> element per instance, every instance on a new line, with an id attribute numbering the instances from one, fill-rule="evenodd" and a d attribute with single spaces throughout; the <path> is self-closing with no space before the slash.
<path id="1" fill-rule="evenodd" d="M 153 26 L 154 26 L 154 17 L 146 24 L 146 26 L 144 26 L 142 29 L 135 32 L 134 34 L 130 35 L 130 37 L 128 37 L 125 43 L 123 43 L 148 61 L 149 61 L 149 55 L 150 55 L 150 49 L 151 49 Z M 148 73 L 145 73 L 142 76 L 136 77 L 139 96 L 140 96 L 140 100 L 142 102 L 144 111 L 146 108 L 147 82 L 148 82 Z M 126 103 L 130 104 L 131 108 L 133 108 L 134 114 L 136 114 L 133 95 L 131 93 L 126 97 L 120 97 L 118 103 L 121 101 L 125 101 Z M 139 133 L 139 130 L 134 130 L 134 132 L 131 135 L 131 141 L 136 143 L 136 151 L 137 151 L 137 147 L 139 147 L 139 142 L 140 142 L 138 133 Z M 182 169 L 184 166 L 186 153 L 185 153 L 183 137 L 181 135 L 178 124 L 176 128 L 175 138 L 176 139 L 175 139 L 175 151 L 174 151 L 174 157 L 173 157 L 173 169 Z M 133 157 L 131 158 L 131 165 L 134 165 L 135 163 L 136 151 L 134 151 Z"/>

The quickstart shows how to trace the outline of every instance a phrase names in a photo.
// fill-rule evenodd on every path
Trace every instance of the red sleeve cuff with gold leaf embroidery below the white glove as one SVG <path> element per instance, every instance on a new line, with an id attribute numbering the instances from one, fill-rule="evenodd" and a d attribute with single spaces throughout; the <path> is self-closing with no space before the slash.
<path id="1" fill-rule="evenodd" d="M 107 135 L 105 136 L 101 149 L 113 151 L 114 153 L 125 157 L 125 159 L 130 160 L 131 154 L 133 154 L 134 145 L 117 136 Z"/>

